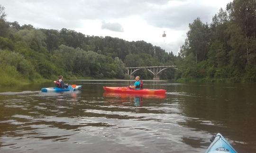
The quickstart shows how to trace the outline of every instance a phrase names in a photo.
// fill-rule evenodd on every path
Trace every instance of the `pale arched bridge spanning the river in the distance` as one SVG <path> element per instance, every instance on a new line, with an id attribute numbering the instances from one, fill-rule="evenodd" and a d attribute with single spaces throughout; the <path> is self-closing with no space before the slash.
<path id="1" fill-rule="evenodd" d="M 154 75 L 154 80 L 159 80 L 160 79 L 160 73 L 163 72 L 165 69 L 168 68 L 174 68 L 178 69 L 177 66 L 156 66 L 156 67 L 132 67 L 132 68 L 126 68 L 127 75 L 133 78 L 134 74 L 140 70 L 140 69 L 146 69 L 149 72 L 151 72 Z"/>

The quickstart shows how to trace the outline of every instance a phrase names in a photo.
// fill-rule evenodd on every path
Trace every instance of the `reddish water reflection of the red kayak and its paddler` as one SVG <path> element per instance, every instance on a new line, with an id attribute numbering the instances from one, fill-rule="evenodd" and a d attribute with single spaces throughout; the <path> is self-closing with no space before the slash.
<path id="1" fill-rule="evenodd" d="M 133 102 L 133 105 L 136 107 L 141 107 L 143 105 L 144 98 L 164 99 L 166 97 L 165 94 L 157 95 L 157 94 L 109 93 L 109 92 L 104 92 L 103 96 L 109 98 L 109 99 L 106 99 L 108 102 L 120 102 L 120 103 Z"/>

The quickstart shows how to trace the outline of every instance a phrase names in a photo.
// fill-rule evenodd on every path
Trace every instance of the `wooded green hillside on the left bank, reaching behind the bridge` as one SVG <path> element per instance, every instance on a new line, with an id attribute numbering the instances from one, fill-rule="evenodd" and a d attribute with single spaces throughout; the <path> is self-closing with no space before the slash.
<path id="1" fill-rule="evenodd" d="M 0 6 L 0 85 L 64 78 L 127 78 L 125 67 L 173 64 L 174 55 L 144 41 L 36 29 L 7 22 Z M 170 72 L 167 72 L 170 73 Z M 163 77 L 173 77 L 164 74 Z M 151 78 L 139 71 L 143 78 Z"/>

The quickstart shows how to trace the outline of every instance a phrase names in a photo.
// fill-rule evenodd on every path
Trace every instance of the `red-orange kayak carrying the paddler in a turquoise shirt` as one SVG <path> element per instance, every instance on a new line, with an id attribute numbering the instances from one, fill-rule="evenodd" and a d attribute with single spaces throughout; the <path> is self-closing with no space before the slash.
<path id="1" fill-rule="evenodd" d="M 106 92 L 110 93 L 139 93 L 139 94 L 165 94 L 166 90 L 164 89 L 131 89 L 129 87 L 110 87 L 103 86 L 103 89 Z"/>

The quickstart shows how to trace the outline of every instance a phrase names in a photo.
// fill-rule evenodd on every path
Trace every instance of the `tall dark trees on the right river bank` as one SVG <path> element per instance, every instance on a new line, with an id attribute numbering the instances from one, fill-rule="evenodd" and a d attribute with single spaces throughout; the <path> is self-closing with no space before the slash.
<path id="1" fill-rule="evenodd" d="M 179 53 L 183 79 L 256 81 L 255 12 L 255 0 L 233 0 L 210 25 L 195 19 Z"/>

